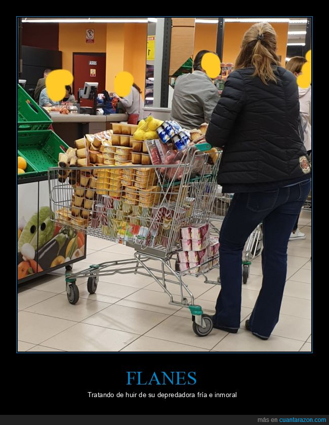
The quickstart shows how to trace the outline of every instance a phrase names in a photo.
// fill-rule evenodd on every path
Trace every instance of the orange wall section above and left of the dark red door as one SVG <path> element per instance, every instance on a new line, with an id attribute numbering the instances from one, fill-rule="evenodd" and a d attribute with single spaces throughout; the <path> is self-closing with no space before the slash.
<path id="1" fill-rule="evenodd" d="M 95 30 L 95 43 L 86 43 L 86 29 Z M 106 24 L 59 24 L 58 50 L 63 69 L 72 72 L 73 52 L 106 52 Z"/>

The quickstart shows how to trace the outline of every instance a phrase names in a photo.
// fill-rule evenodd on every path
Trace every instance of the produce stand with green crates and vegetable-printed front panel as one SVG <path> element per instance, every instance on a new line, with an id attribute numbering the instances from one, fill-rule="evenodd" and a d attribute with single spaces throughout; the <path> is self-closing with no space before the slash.
<path id="1" fill-rule="evenodd" d="M 69 104 L 50 109 L 67 113 L 67 107 Z M 17 121 L 17 272 L 19 281 L 24 282 L 29 276 L 85 256 L 86 250 L 83 232 L 57 225 L 53 220 L 49 186 L 44 181 L 48 168 L 56 166 L 58 156 L 63 164 L 74 165 L 72 152 L 49 130 L 51 119 L 21 86 L 18 86 Z M 64 180 L 63 174 L 61 179 Z"/>

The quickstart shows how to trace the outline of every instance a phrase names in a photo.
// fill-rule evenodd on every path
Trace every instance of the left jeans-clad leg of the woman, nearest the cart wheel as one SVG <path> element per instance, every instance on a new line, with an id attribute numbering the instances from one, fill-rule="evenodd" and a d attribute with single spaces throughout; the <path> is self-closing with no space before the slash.
<path id="1" fill-rule="evenodd" d="M 278 191 L 233 197 L 219 238 L 221 290 L 213 317 L 215 328 L 236 332 L 240 326 L 243 247 L 252 231 L 271 212 Z"/>

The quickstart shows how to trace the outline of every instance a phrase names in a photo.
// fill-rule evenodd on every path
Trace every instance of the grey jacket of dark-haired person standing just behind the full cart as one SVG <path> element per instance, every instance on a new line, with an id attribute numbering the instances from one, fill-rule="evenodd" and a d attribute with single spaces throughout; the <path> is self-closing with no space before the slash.
<path id="1" fill-rule="evenodd" d="M 175 84 L 171 119 L 186 129 L 209 123 L 218 100 L 218 90 L 207 74 L 183 74 Z"/>

